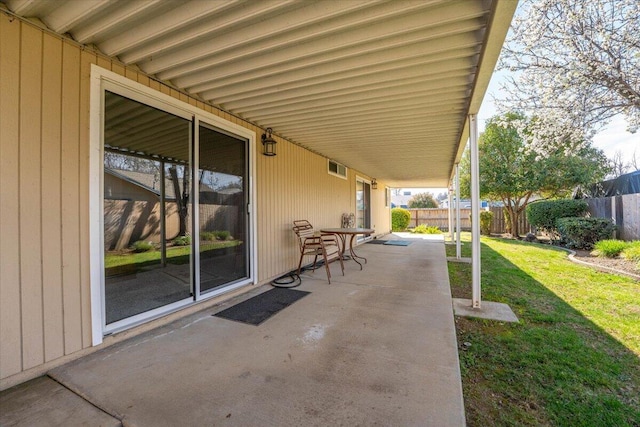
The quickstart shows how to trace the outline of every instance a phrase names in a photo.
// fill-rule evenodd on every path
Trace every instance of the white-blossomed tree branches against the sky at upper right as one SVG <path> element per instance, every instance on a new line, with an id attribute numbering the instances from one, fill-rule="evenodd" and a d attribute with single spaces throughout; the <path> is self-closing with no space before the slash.
<path id="1" fill-rule="evenodd" d="M 545 155 L 558 147 L 578 150 L 618 114 L 635 132 L 638 1 L 522 0 L 520 11 L 500 61 L 511 77 L 498 103 L 538 117 L 521 132 L 528 147 Z"/>

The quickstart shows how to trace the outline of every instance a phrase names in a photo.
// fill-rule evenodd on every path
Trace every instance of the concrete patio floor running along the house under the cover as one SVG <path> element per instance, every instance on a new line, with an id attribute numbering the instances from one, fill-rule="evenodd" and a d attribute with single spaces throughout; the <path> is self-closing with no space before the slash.
<path id="1" fill-rule="evenodd" d="M 464 425 L 443 242 L 357 252 L 260 326 L 212 314 L 270 286 L 6 390 L 0 425 Z"/>

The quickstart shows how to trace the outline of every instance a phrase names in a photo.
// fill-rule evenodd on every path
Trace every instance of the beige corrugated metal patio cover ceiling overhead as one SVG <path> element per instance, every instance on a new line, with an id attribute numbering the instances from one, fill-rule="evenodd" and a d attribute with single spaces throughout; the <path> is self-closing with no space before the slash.
<path id="1" fill-rule="evenodd" d="M 516 0 L 1 0 L 393 187 L 445 187 Z"/>

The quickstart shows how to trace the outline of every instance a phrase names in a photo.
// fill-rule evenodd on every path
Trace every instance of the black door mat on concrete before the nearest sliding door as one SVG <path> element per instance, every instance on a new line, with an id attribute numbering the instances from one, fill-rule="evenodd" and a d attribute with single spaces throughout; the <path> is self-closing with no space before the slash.
<path id="1" fill-rule="evenodd" d="M 280 310 L 310 293 L 295 289 L 273 288 L 233 307 L 222 310 L 214 314 L 214 316 L 258 326 Z"/>

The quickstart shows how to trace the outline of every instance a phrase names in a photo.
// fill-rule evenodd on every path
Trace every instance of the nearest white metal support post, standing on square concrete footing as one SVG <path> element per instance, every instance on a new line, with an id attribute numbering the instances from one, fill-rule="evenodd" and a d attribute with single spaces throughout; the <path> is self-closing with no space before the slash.
<path id="1" fill-rule="evenodd" d="M 480 308 L 480 162 L 478 120 L 469 115 L 469 154 L 471 154 L 471 286 L 473 308 Z"/>

